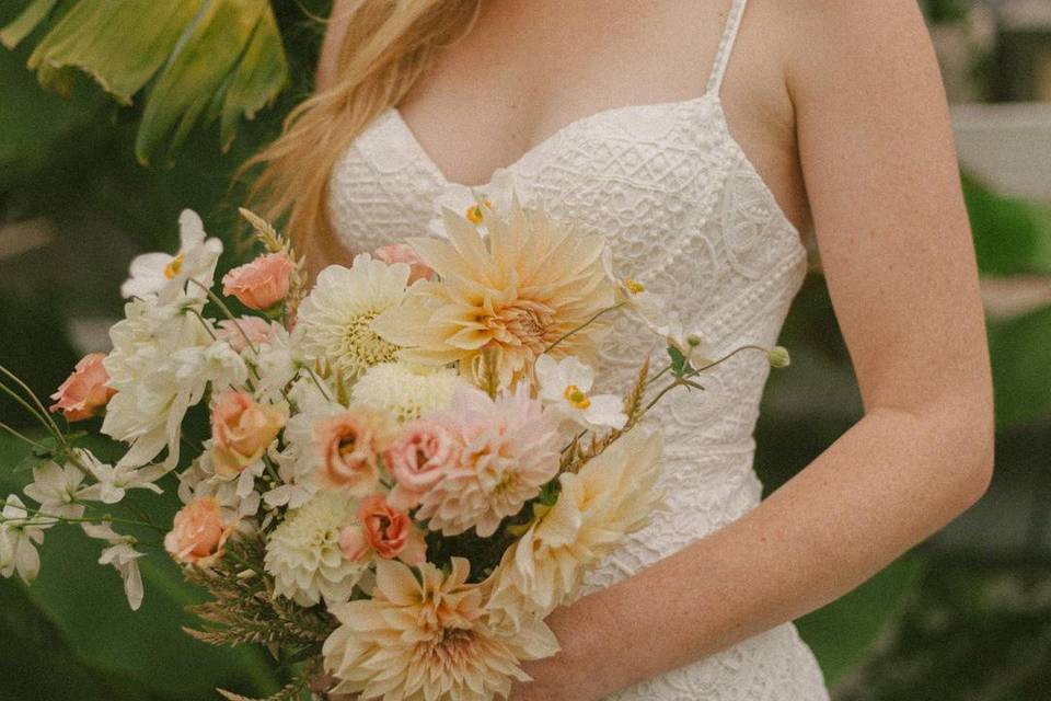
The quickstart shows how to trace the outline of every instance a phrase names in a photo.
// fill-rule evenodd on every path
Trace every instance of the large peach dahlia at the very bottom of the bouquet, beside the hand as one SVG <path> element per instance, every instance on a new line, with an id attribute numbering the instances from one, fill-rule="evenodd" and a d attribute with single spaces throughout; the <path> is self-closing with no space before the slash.
<path id="1" fill-rule="evenodd" d="M 519 660 L 558 651 L 551 629 L 532 619 L 521 630 L 492 625 L 470 564 L 452 559 L 447 576 L 430 563 L 421 582 L 393 560 L 377 562 L 372 599 L 330 610 L 342 625 L 325 641 L 325 669 L 334 693 L 362 699 L 489 701 L 528 681 Z"/>

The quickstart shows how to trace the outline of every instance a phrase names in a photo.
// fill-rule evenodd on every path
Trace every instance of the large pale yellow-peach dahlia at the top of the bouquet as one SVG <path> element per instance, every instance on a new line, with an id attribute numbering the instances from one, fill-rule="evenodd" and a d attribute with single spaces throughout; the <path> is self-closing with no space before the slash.
<path id="1" fill-rule="evenodd" d="M 439 280 L 417 283 L 402 304 L 372 323 L 381 337 L 405 348 L 405 359 L 460 363 L 466 374 L 493 349 L 506 387 L 547 346 L 614 303 L 601 235 L 563 227 L 542 207 L 526 211 L 517 197 L 507 216 L 487 217 L 487 238 L 458 212 L 442 214 L 448 240 L 409 241 Z M 591 356 L 604 329 L 588 325 L 553 355 Z"/>

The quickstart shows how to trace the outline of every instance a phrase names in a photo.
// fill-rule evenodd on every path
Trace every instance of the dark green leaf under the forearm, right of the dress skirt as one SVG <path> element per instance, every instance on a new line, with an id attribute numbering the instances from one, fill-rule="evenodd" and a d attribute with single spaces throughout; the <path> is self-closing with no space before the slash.
<path id="1" fill-rule="evenodd" d="M 861 663 L 904 610 L 925 568 L 906 555 L 846 596 L 797 621 L 829 685 Z"/>

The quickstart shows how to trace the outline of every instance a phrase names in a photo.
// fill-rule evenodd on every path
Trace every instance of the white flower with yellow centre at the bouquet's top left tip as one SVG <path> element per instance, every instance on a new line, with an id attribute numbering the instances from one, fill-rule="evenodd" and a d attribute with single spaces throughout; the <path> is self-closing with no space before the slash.
<path id="1" fill-rule="evenodd" d="M 216 264 L 222 254 L 222 241 L 209 239 L 205 226 L 192 209 L 184 209 L 178 217 L 178 253 L 145 253 L 131 261 L 131 277 L 120 286 L 125 297 L 157 296 L 162 304 L 174 301 L 182 295 L 205 297 L 205 288 L 211 288 Z M 189 280 L 189 289 L 186 288 Z"/>

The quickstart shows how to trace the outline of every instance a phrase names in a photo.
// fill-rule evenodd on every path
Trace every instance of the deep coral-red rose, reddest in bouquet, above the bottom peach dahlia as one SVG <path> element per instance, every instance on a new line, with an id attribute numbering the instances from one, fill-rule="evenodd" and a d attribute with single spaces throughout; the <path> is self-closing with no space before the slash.
<path id="1" fill-rule="evenodd" d="M 404 512 L 379 494 L 361 501 L 358 521 L 360 526 L 347 526 L 339 533 L 339 549 L 347 560 L 361 560 L 370 550 L 385 560 L 400 558 L 411 565 L 427 559 L 424 535 Z"/>

